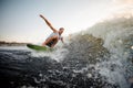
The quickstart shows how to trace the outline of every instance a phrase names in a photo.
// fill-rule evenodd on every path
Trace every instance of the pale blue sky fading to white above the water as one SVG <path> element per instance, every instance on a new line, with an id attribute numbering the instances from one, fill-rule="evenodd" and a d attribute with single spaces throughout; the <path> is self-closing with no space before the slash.
<path id="1" fill-rule="evenodd" d="M 0 41 L 43 42 L 52 33 L 44 15 L 63 35 L 86 30 L 96 22 L 133 12 L 133 0 L 0 0 Z"/>

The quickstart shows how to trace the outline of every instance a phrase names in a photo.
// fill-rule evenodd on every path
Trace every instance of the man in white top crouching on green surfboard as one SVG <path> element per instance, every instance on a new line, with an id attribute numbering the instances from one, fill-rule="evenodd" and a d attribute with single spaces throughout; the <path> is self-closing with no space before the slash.
<path id="1" fill-rule="evenodd" d="M 42 46 L 47 45 L 49 47 L 54 47 L 54 45 L 59 42 L 59 40 L 61 40 L 62 43 L 64 43 L 63 37 L 61 36 L 64 29 L 60 28 L 59 31 L 58 31 L 52 26 L 52 24 L 43 15 L 40 14 L 40 16 L 45 21 L 48 26 L 50 26 L 50 29 L 53 31 L 53 33 L 50 34 L 50 36 L 45 40 L 45 42 L 42 44 Z"/>

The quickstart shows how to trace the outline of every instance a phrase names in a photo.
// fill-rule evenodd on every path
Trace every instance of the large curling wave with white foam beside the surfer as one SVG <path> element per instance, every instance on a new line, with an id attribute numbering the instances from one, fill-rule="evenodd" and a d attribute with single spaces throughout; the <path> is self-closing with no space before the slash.
<path id="1" fill-rule="evenodd" d="M 95 72 L 105 77 L 106 81 L 119 85 L 120 88 L 129 88 L 129 78 L 133 76 L 132 47 L 133 18 L 119 18 L 96 23 L 86 31 L 74 34 L 68 59 L 80 59 L 88 67 L 94 64 Z"/>

